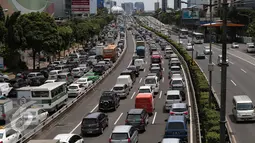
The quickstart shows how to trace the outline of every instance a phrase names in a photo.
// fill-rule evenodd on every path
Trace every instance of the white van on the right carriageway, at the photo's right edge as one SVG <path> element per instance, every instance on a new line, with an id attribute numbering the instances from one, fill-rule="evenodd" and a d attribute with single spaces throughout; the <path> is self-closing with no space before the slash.
<path id="1" fill-rule="evenodd" d="M 233 97 L 232 103 L 232 113 L 236 122 L 255 120 L 254 104 L 249 96 L 236 95 Z"/>

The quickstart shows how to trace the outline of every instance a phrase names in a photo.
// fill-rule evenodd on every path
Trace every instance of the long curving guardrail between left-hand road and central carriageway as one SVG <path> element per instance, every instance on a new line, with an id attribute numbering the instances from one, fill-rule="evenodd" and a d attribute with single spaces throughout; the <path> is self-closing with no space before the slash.
<path id="1" fill-rule="evenodd" d="M 102 82 L 104 80 L 105 77 L 107 77 L 113 69 L 116 68 L 116 66 L 119 64 L 119 62 L 121 61 L 121 59 L 123 58 L 123 56 L 126 53 L 126 49 L 127 49 L 127 31 L 125 32 L 125 44 L 124 44 L 124 50 L 121 53 L 120 57 L 118 58 L 118 60 L 113 64 L 113 66 L 108 69 L 95 83 L 93 83 L 89 88 L 87 88 L 82 94 L 78 95 L 76 98 L 74 98 L 72 101 L 70 101 L 68 104 L 66 104 L 65 106 L 63 106 L 60 110 L 58 110 L 56 113 L 54 113 L 53 115 L 51 115 L 50 117 L 48 117 L 45 121 L 42 121 L 37 127 L 33 128 L 29 133 L 23 135 L 18 142 L 27 142 L 29 141 L 34 135 L 36 135 L 39 131 L 41 131 L 43 128 L 48 127 L 48 125 L 55 121 L 60 115 L 62 115 L 63 113 L 65 113 L 68 109 L 70 109 L 72 106 L 75 105 L 75 103 L 81 101 L 79 99 L 85 97 L 85 95 L 87 93 L 89 93 L 91 90 L 94 89 L 94 87 L 96 87 L 100 82 Z"/>

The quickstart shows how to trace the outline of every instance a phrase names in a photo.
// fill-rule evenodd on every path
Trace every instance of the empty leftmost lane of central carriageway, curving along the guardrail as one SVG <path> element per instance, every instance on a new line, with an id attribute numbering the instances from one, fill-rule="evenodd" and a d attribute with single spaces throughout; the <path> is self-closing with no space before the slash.
<path id="1" fill-rule="evenodd" d="M 127 44 L 128 48 L 126 54 L 116 69 L 108 75 L 108 77 L 106 77 L 98 87 L 86 95 L 86 97 L 83 98 L 82 101 L 74 108 L 70 109 L 68 113 L 54 122 L 49 128 L 38 134 L 35 137 L 36 139 L 52 139 L 57 134 L 69 133 L 80 123 L 82 117 L 89 113 L 98 104 L 101 93 L 103 91 L 110 90 L 114 86 L 119 74 L 128 66 L 129 60 L 132 58 L 134 48 L 132 35 L 130 33 L 127 34 Z"/>

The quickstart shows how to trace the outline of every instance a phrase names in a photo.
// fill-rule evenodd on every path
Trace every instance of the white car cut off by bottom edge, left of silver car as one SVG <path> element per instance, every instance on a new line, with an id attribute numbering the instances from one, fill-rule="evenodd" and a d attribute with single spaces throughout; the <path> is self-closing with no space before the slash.
<path id="1" fill-rule="evenodd" d="M 84 143 L 83 138 L 77 134 L 58 134 L 54 140 L 59 140 L 61 143 Z"/>

